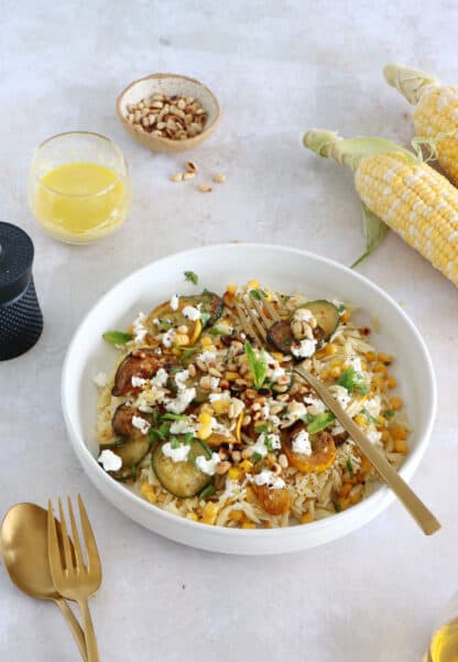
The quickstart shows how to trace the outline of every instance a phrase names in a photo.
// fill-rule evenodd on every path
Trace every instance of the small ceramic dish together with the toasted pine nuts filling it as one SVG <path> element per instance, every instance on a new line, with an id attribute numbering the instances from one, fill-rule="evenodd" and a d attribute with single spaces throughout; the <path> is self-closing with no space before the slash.
<path id="1" fill-rule="evenodd" d="M 199 145 L 220 119 L 218 99 L 199 80 L 152 74 L 131 83 L 118 97 L 124 129 L 156 152 L 185 152 Z"/>

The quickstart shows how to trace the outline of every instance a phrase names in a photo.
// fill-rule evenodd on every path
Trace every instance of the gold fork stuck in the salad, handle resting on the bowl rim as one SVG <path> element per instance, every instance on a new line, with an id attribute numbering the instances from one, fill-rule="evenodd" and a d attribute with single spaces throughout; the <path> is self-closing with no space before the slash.
<path id="1" fill-rule="evenodd" d="M 250 307 L 252 304 L 254 311 Z M 264 312 L 268 312 L 269 316 Z M 268 333 L 270 327 L 279 322 L 282 322 L 275 307 L 265 299 L 262 299 L 262 305 L 253 296 L 248 295 L 242 301 L 236 302 L 236 310 L 240 318 L 240 323 L 247 336 L 253 338 L 257 343 L 263 346 L 269 345 Z M 294 366 L 296 372 L 304 381 L 306 381 L 320 397 L 327 408 L 335 414 L 339 423 L 350 434 L 350 437 L 362 451 L 372 466 L 378 470 L 380 476 L 385 480 L 386 485 L 393 490 L 399 500 L 405 506 L 411 516 L 421 527 L 426 535 L 430 535 L 440 529 L 440 523 L 434 514 L 426 508 L 423 501 L 415 495 L 408 485 L 401 478 L 397 471 L 391 466 L 385 457 L 371 444 L 361 428 L 355 423 L 347 412 L 340 406 L 337 400 L 328 388 L 314 375 L 305 368 L 305 361 Z"/>

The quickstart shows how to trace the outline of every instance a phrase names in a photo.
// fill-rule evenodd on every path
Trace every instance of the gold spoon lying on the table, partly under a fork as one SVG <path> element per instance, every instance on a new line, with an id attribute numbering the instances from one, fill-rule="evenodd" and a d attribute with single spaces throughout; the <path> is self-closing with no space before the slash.
<path id="1" fill-rule="evenodd" d="M 57 530 L 59 523 L 56 521 Z M 0 530 L 4 566 L 20 590 L 39 600 L 53 600 L 62 610 L 84 660 L 84 632 L 72 609 L 56 592 L 47 556 L 47 511 L 35 503 L 17 503 L 4 516 Z"/>

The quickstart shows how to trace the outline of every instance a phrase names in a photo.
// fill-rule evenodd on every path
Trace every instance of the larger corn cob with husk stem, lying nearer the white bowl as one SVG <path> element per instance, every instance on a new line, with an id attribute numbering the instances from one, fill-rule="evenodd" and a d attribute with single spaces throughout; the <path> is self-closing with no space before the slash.
<path id="1" fill-rule="evenodd" d="M 443 175 L 380 138 L 314 129 L 304 145 L 352 167 L 363 204 L 458 285 L 458 191 Z"/>

